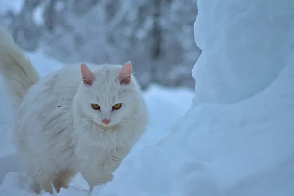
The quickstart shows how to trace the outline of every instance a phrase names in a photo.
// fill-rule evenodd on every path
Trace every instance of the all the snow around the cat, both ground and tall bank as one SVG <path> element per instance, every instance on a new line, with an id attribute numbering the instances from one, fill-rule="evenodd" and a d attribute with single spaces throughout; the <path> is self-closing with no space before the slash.
<path id="1" fill-rule="evenodd" d="M 90 193 L 78 175 L 58 196 L 294 195 L 294 1 L 198 0 L 198 8 L 195 95 L 151 86 L 149 129 L 113 181 Z M 11 130 L 1 132 L 11 169 L 0 172 L 0 195 L 35 196 L 11 158 Z"/>

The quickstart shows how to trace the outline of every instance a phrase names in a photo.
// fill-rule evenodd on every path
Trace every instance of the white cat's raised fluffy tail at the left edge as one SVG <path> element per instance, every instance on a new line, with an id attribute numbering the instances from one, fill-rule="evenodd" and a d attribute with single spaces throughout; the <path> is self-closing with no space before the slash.
<path id="1" fill-rule="evenodd" d="M 29 58 L 2 25 L 0 25 L 0 73 L 4 76 L 14 105 L 20 104 L 27 90 L 40 79 Z"/>

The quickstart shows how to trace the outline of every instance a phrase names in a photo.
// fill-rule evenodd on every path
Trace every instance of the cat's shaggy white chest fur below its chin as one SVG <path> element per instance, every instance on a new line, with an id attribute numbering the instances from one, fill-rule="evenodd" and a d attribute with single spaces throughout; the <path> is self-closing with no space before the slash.
<path id="1" fill-rule="evenodd" d="M 97 167 L 107 172 L 114 172 L 135 143 L 131 137 L 135 127 L 130 125 L 108 130 L 95 125 L 75 127 L 75 153 L 79 159 L 98 163 Z"/>

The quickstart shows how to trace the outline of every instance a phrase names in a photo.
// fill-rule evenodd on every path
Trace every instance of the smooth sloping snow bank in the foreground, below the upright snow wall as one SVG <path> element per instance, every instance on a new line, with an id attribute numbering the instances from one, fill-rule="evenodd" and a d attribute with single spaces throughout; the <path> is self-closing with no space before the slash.
<path id="1" fill-rule="evenodd" d="M 294 66 L 262 93 L 191 109 L 97 196 L 293 196 Z"/>

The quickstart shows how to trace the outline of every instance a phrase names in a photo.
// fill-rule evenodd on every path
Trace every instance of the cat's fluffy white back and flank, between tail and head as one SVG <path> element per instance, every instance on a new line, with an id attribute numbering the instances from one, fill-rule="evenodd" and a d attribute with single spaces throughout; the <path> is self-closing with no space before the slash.
<path id="1" fill-rule="evenodd" d="M 67 148 L 68 155 L 72 154 L 68 149 L 73 129 L 72 103 L 81 81 L 80 64 L 75 64 L 50 73 L 28 90 L 15 114 L 20 149 L 34 149 L 37 156 L 50 149 L 46 156 L 55 157 Z"/>

